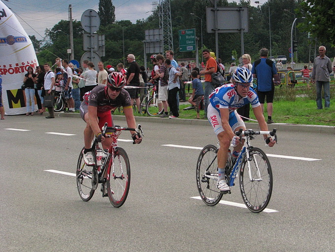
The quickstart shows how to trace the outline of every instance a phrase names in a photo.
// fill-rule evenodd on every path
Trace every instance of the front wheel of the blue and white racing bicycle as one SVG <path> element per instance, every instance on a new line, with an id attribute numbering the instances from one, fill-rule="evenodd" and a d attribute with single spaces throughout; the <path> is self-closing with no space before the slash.
<path id="1" fill-rule="evenodd" d="M 272 170 L 267 154 L 260 148 L 252 148 L 249 156 L 250 166 L 246 155 L 241 164 L 239 186 L 247 208 L 251 212 L 260 213 L 268 206 L 271 198 Z"/>

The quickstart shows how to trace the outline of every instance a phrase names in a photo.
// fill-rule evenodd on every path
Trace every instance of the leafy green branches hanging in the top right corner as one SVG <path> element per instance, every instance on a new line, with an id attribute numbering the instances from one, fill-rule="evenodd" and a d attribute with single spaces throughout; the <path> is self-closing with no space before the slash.
<path id="1" fill-rule="evenodd" d="M 335 46 L 334 0 L 304 0 L 300 3 L 300 8 L 306 18 L 301 25 L 303 31 L 310 32 L 321 43 Z"/>

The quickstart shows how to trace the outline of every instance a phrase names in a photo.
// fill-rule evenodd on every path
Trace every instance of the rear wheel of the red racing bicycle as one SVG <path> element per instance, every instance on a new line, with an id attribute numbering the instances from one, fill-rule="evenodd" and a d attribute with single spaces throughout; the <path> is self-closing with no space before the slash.
<path id="1" fill-rule="evenodd" d="M 98 181 L 97 174 L 93 171 L 93 166 L 87 166 L 84 161 L 83 155 L 84 148 L 80 151 L 80 155 L 77 163 L 77 188 L 79 192 L 79 196 L 83 201 L 89 201 L 94 194 L 97 183 L 92 183 L 92 178 L 96 176 L 96 180 Z"/>

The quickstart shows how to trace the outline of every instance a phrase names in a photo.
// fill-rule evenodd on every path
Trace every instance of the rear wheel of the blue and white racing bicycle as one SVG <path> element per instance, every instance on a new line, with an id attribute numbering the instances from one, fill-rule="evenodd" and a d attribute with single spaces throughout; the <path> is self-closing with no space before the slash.
<path id="1" fill-rule="evenodd" d="M 202 201 L 215 206 L 222 198 L 216 187 L 218 177 L 217 148 L 212 144 L 203 147 L 197 162 L 197 187 Z"/>

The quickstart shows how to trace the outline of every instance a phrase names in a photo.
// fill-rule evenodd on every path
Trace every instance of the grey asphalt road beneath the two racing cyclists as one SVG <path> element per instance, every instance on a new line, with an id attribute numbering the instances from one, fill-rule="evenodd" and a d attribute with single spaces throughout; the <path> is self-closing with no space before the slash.
<path id="1" fill-rule="evenodd" d="M 127 201 L 117 209 L 101 197 L 100 186 L 84 202 L 75 177 L 45 171 L 75 173 L 83 146 L 81 119 L 1 120 L 0 251 L 334 251 L 334 135 L 278 132 L 273 148 L 265 147 L 262 137 L 254 140 L 268 154 L 320 159 L 269 157 L 274 186 L 268 208 L 278 212 L 254 214 L 192 198 L 199 196 L 200 150 L 164 146 L 215 144 L 210 127 L 142 126 L 142 144 L 119 142 L 130 157 L 132 179 Z M 131 136 L 125 132 L 120 139 Z M 223 200 L 243 203 L 238 186 Z"/>

